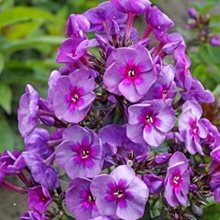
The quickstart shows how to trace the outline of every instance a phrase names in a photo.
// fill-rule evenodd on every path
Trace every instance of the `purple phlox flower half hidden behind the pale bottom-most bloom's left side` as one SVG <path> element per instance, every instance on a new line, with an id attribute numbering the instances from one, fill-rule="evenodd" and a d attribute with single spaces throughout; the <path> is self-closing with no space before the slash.
<path id="1" fill-rule="evenodd" d="M 100 215 L 95 204 L 95 197 L 90 190 L 90 183 L 88 179 L 76 178 L 72 180 L 66 192 L 67 209 L 78 220 Z"/>

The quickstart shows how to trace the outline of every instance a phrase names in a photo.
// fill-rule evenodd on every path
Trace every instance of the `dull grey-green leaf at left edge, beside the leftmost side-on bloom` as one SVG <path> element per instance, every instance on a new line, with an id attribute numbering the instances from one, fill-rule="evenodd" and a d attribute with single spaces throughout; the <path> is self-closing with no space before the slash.
<path id="1" fill-rule="evenodd" d="M 4 113 L 0 111 L 0 152 L 14 148 L 14 133 L 5 117 Z"/>

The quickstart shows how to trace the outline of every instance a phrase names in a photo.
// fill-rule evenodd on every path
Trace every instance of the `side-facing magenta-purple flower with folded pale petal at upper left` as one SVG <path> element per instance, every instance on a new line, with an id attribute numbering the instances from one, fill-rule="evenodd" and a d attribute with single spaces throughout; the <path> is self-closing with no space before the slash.
<path id="1" fill-rule="evenodd" d="M 86 59 L 89 44 L 88 39 L 80 37 L 66 39 L 58 49 L 57 62 L 74 64 L 80 59 Z"/>

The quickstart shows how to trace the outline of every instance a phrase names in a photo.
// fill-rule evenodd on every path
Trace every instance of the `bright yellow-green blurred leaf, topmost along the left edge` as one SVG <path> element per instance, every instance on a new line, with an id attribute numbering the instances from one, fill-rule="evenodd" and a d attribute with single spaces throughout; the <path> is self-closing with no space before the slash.
<path id="1" fill-rule="evenodd" d="M 0 28 L 30 19 L 53 21 L 55 16 L 40 8 L 18 6 L 9 8 L 0 14 Z"/>

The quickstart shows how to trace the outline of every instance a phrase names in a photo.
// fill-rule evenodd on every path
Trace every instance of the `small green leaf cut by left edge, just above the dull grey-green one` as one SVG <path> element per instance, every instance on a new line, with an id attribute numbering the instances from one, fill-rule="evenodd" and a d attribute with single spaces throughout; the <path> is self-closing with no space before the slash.
<path id="1" fill-rule="evenodd" d="M 0 83 L 0 106 L 8 113 L 11 113 L 12 91 L 11 88 L 5 84 Z"/>

